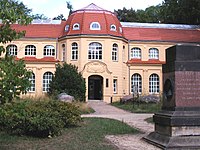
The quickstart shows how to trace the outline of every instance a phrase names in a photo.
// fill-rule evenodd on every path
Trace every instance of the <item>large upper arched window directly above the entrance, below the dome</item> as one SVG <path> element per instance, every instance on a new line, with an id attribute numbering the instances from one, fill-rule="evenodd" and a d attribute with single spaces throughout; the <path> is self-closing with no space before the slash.
<path id="1" fill-rule="evenodd" d="M 102 45 L 97 42 L 89 44 L 88 59 L 101 60 L 102 59 Z"/>

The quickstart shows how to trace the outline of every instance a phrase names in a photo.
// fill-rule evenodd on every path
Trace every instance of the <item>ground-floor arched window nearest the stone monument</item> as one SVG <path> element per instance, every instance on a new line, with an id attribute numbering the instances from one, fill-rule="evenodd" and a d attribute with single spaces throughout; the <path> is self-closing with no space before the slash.
<path id="1" fill-rule="evenodd" d="M 157 74 L 151 74 L 149 77 L 149 93 L 158 94 L 160 91 L 159 76 Z"/>

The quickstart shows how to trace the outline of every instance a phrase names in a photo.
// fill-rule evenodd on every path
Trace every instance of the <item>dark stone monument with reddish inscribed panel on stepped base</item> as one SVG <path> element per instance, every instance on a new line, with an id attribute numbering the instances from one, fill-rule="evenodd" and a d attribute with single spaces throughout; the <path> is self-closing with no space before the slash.
<path id="1" fill-rule="evenodd" d="M 166 50 L 162 110 L 144 139 L 162 149 L 200 149 L 200 46 Z"/>

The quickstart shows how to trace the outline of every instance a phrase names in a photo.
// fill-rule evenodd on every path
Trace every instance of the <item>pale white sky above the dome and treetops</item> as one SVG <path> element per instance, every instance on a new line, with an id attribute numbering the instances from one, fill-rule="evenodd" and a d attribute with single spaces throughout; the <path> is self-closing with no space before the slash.
<path id="1" fill-rule="evenodd" d="M 123 7 L 135 10 L 145 9 L 152 5 L 162 3 L 162 0 L 19 0 L 24 3 L 29 9 L 32 9 L 33 14 L 44 14 L 48 18 L 53 18 L 59 14 L 63 14 L 65 18 L 68 17 L 69 10 L 67 9 L 66 1 L 69 1 L 73 10 L 81 9 L 91 3 L 97 6 L 114 11 L 122 9 Z"/>

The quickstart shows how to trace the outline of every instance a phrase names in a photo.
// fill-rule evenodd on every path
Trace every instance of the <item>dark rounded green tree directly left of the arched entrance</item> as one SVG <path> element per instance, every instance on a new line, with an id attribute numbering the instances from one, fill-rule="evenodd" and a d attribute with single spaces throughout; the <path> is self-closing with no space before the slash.
<path id="1" fill-rule="evenodd" d="M 80 101 L 85 101 L 86 85 L 78 68 L 74 65 L 64 63 L 56 66 L 55 76 L 50 83 L 49 95 L 57 96 L 67 93 Z"/>

